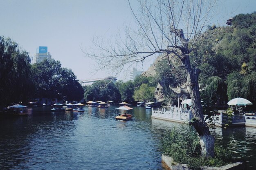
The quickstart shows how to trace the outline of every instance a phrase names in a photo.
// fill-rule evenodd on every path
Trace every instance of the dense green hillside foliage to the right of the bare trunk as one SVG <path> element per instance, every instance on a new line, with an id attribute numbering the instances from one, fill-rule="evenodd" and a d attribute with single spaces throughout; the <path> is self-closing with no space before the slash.
<path id="1" fill-rule="evenodd" d="M 205 40 L 203 46 L 201 44 L 196 46 L 191 53 L 202 71 L 199 77 L 202 86 L 209 86 L 211 83 L 208 81 L 209 77 L 218 76 L 225 82 L 227 93 L 222 92 L 225 102 L 236 97 L 243 97 L 253 104 L 256 103 L 254 90 L 256 77 L 255 17 L 255 12 L 236 15 L 232 21 L 233 26 L 220 27 L 221 31 L 214 35 L 213 40 Z M 218 103 L 218 97 L 214 99 L 212 94 L 204 94 L 205 99 L 212 99 L 213 103 Z"/>

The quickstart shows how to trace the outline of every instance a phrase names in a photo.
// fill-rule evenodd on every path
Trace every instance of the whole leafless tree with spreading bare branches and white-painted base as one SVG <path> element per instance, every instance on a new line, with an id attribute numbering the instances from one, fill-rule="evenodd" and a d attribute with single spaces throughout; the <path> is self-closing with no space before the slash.
<path id="1" fill-rule="evenodd" d="M 200 138 L 201 153 L 206 157 L 213 156 L 215 141 L 204 121 L 200 102 L 200 69 L 191 66 L 190 53 L 195 45 L 203 44 L 215 33 L 203 33 L 216 5 L 215 0 L 138 0 L 138 4 L 128 0 L 128 3 L 137 28 L 127 26 L 124 39 L 117 37 L 104 42 L 95 38 L 95 46 L 85 55 L 95 59 L 100 68 L 112 71 L 123 69 L 125 64 L 144 62 L 146 58 L 161 53 L 178 57 L 189 84 L 195 117 L 192 124 Z"/>

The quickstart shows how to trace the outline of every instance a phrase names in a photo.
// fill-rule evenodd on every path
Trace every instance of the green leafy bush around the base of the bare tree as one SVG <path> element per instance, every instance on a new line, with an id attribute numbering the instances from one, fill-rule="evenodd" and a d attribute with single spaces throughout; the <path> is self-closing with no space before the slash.
<path id="1" fill-rule="evenodd" d="M 231 153 L 215 145 L 214 157 L 202 157 L 200 141 L 196 131 L 189 125 L 173 128 L 167 132 L 161 140 L 162 152 L 173 158 L 177 163 L 184 163 L 192 169 L 200 169 L 200 166 L 223 166 L 232 162 Z"/>

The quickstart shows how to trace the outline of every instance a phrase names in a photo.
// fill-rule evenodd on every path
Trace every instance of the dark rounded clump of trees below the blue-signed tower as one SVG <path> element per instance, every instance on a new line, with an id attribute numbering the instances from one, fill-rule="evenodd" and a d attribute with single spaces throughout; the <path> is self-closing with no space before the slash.
<path id="1" fill-rule="evenodd" d="M 34 66 L 36 94 L 34 97 L 58 98 L 67 101 L 80 101 L 83 88 L 74 73 L 62 68 L 55 60 L 44 60 Z"/>

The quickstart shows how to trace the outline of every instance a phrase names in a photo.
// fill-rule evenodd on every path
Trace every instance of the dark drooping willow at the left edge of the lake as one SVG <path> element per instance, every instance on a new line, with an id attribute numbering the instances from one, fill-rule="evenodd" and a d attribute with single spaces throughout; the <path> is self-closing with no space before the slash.
<path id="1" fill-rule="evenodd" d="M 27 103 L 34 92 L 29 54 L 10 38 L 0 36 L 0 105 Z"/>

